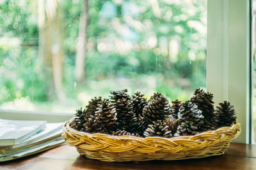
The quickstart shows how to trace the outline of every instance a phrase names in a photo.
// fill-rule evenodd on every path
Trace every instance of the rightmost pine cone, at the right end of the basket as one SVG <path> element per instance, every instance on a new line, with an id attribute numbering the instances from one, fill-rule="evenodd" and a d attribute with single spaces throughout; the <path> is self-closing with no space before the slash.
<path id="1" fill-rule="evenodd" d="M 231 126 L 236 124 L 236 111 L 234 106 L 230 105 L 229 102 L 224 101 L 224 103 L 219 103 L 219 106 L 216 107 L 216 114 L 218 115 L 219 127 Z"/>

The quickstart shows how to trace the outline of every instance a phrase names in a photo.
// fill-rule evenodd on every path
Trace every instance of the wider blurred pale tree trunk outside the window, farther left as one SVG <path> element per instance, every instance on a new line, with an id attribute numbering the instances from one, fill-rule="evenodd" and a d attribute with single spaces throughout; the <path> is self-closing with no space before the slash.
<path id="1" fill-rule="evenodd" d="M 65 101 L 63 90 L 63 25 L 58 0 L 38 0 L 38 55 L 43 62 L 48 97 L 56 93 L 59 101 Z"/>

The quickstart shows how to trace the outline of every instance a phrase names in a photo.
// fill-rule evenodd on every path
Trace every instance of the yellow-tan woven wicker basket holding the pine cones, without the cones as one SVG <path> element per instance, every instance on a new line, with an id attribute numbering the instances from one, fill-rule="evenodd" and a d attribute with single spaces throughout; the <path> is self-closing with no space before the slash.
<path id="1" fill-rule="evenodd" d="M 197 159 L 222 155 L 241 131 L 238 121 L 231 127 L 221 127 L 216 131 L 170 139 L 89 134 L 72 127 L 74 118 L 63 125 L 62 136 L 68 145 L 76 146 L 85 157 L 108 162 Z"/>

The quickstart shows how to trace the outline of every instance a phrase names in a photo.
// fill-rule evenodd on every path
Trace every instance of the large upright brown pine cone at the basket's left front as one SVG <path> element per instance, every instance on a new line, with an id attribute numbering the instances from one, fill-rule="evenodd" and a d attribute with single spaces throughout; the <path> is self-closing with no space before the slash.
<path id="1" fill-rule="evenodd" d="M 104 99 L 97 105 L 95 111 L 95 124 L 98 132 L 112 134 L 116 130 L 116 110 L 112 103 Z"/>

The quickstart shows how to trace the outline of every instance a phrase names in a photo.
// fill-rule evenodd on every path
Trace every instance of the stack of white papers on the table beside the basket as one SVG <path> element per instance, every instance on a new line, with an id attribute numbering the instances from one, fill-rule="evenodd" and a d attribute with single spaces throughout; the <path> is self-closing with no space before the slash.
<path id="1" fill-rule="evenodd" d="M 0 119 L 0 162 L 62 145 L 62 124 Z"/>

